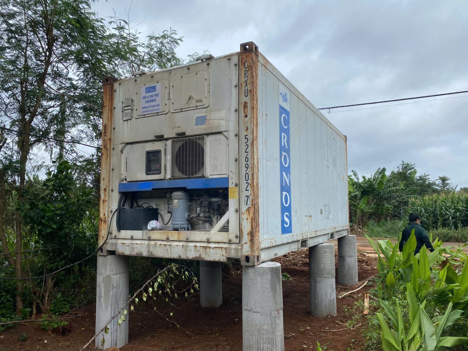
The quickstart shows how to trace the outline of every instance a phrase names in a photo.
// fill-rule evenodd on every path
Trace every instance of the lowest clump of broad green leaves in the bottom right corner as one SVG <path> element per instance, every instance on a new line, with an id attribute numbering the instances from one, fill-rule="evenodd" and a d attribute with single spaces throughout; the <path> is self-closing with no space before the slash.
<path id="1" fill-rule="evenodd" d="M 380 306 L 396 329 L 390 329 L 382 314 L 376 314 L 380 322 L 383 351 L 439 351 L 444 347 L 468 344 L 468 337 L 442 336 L 444 329 L 462 314 L 461 310 L 452 310 L 452 303 L 449 303 L 444 315 L 431 320 L 424 310 L 426 301 L 418 304 L 410 283 L 407 284 L 406 298 L 409 304 L 409 325 L 403 321 L 398 300 L 396 313 L 386 301 L 379 300 Z"/>

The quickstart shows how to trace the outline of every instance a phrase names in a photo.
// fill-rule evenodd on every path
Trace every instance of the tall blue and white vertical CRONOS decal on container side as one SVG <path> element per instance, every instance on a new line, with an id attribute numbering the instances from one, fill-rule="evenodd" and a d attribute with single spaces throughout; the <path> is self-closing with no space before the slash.
<path id="1" fill-rule="evenodd" d="M 279 84 L 279 184 L 281 201 L 281 234 L 292 233 L 291 221 L 291 142 L 290 91 Z"/>

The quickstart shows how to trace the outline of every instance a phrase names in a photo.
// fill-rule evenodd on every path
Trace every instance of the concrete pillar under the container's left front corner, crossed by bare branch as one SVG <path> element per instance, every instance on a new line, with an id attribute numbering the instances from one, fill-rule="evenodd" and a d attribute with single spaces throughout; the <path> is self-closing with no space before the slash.
<path id="1" fill-rule="evenodd" d="M 129 275 L 129 256 L 97 256 L 96 333 L 128 301 Z M 125 309 L 130 312 L 128 307 Z M 98 349 L 120 348 L 128 343 L 129 314 L 125 315 L 125 321 L 120 326 L 117 325 L 118 317 L 115 318 L 108 325 L 109 332 L 102 332 L 96 337 L 95 346 Z"/>

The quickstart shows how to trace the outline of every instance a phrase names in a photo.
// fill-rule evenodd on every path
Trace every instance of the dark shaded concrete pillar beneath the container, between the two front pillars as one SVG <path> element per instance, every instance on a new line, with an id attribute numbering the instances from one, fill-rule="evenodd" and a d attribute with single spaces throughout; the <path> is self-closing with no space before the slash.
<path id="1" fill-rule="evenodd" d="M 200 261 L 200 306 L 219 307 L 223 304 L 220 262 Z"/>

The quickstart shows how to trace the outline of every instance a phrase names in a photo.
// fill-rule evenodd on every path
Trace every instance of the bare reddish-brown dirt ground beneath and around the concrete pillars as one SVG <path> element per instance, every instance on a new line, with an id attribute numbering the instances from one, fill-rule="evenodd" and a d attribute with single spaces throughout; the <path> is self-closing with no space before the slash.
<path id="1" fill-rule="evenodd" d="M 348 308 L 357 300 L 362 300 L 370 286 L 337 299 L 336 317 L 313 318 L 310 314 L 307 249 L 279 257 L 276 261 L 282 264 L 282 272 L 292 278 L 283 281 L 285 350 L 316 350 L 317 340 L 321 345 L 326 345 L 327 350 L 346 351 L 348 347 L 363 350 L 364 340 L 359 329 L 347 329 L 346 322 L 353 316 Z M 376 273 L 376 261 L 372 255 L 359 252 L 358 262 L 360 282 Z M 177 300 L 176 307 L 158 306 L 161 314 L 174 312 L 181 329 L 163 319 L 152 306 L 135 308 L 129 318 L 129 344 L 120 350 L 242 350 L 241 282 L 240 270 L 223 274 L 223 305 L 217 309 L 201 308 L 198 295 L 192 295 L 189 300 Z M 349 290 L 336 286 L 338 295 Z M 0 351 L 78 351 L 94 335 L 95 306 L 75 312 L 81 315 L 68 320 L 70 328 L 66 333 L 46 332 L 34 323 L 22 323 L 1 332 Z M 27 339 L 18 341 L 23 333 L 28 336 Z"/>

